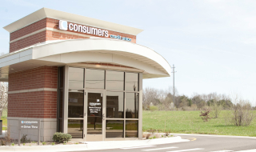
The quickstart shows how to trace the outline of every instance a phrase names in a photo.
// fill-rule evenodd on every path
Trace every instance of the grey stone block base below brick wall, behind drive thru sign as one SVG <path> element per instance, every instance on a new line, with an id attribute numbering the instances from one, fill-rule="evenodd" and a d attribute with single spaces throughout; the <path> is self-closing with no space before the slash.
<path id="1" fill-rule="evenodd" d="M 17 118 L 7 117 L 7 126 L 10 131 L 10 138 L 18 139 L 18 122 L 19 120 L 41 120 L 40 141 L 52 141 L 53 135 L 57 132 L 56 118 Z M 26 138 L 31 141 L 38 141 L 38 130 L 22 130 L 22 135 L 27 134 Z M 22 137 L 21 135 L 21 137 Z"/>

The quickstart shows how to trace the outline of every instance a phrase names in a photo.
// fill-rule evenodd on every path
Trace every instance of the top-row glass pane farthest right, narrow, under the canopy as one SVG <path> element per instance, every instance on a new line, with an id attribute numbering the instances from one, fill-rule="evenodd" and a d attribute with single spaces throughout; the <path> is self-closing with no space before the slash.
<path id="1" fill-rule="evenodd" d="M 138 74 L 126 73 L 126 91 L 138 91 Z"/>

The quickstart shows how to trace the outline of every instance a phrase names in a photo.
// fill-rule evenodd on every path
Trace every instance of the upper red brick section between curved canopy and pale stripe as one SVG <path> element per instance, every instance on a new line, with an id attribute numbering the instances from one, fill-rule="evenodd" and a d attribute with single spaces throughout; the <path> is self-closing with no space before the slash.
<path id="1" fill-rule="evenodd" d="M 38 88 L 57 89 L 58 67 L 42 66 L 9 74 L 9 91 Z"/>

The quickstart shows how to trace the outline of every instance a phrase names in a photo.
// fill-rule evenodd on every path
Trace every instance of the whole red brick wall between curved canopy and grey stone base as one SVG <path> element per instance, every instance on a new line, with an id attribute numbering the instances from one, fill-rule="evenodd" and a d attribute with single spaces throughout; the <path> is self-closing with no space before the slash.
<path id="1" fill-rule="evenodd" d="M 9 74 L 9 91 L 57 89 L 58 67 L 42 66 Z M 57 118 L 57 91 L 8 94 L 8 117 Z"/>

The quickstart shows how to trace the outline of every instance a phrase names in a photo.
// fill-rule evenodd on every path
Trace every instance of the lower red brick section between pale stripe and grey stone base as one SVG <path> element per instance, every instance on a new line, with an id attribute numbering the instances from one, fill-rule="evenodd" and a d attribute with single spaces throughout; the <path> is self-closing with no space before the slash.
<path id="1" fill-rule="evenodd" d="M 57 91 L 8 94 L 8 117 L 57 118 Z"/>

